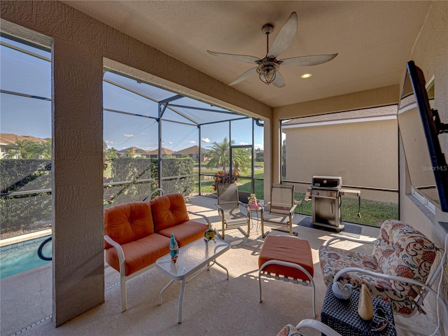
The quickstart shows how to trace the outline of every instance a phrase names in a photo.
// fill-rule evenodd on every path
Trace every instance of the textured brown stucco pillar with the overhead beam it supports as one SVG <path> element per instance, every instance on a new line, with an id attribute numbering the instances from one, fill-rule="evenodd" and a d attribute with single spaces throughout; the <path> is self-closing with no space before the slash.
<path id="1" fill-rule="evenodd" d="M 1 1 L 9 33 L 52 47 L 53 322 L 104 302 L 103 66 L 268 120 L 272 109 L 58 1 Z M 118 69 L 122 70 L 122 69 Z"/>

